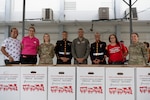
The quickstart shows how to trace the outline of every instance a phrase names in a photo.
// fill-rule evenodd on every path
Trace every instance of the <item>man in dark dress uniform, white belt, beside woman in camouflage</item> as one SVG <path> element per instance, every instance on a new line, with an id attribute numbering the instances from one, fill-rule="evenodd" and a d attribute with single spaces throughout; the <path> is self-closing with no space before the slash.
<path id="1" fill-rule="evenodd" d="M 55 53 L 57 56 L 57 64 L 71 64 L 71 42 L 67 40 L 68 33 L 62 32 L 63 40 L 56 42 Z"/>

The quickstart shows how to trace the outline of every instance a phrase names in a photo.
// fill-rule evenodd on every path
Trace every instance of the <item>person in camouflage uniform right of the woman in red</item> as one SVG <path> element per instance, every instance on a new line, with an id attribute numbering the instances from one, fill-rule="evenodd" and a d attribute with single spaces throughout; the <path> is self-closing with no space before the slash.
<path id="1" fill-rule="evenodd" d="M 129 63 L 130 65 L 146 65 L 148 61 L 147 50 L 144 43 L 139 42 L 137 33 L 131 34 L 132 43 L 129 46 Z"/>

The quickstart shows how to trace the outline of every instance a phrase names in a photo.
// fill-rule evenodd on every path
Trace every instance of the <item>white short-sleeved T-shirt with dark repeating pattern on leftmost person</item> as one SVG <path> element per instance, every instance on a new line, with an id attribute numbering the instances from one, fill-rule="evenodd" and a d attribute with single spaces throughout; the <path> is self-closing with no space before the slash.
<path id="1" fill-rule="evenodd" d="M 14 59 L 14 61 L 20 60 L 20 40 L 9 37 L 3 41 L 2 46 L 5 47 L 6 52 Z M 8 59 L 8 57 L 5 56 L 5 59 Z"/>

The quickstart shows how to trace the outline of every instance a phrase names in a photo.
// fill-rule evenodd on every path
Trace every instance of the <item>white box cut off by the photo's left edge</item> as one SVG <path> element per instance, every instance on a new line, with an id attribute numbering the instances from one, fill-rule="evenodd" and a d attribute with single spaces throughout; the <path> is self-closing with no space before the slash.
<path id="1" fill-rule="evenodd" d="M 20 100 L 20 68 L 0 67 L 0 99 Z"/>

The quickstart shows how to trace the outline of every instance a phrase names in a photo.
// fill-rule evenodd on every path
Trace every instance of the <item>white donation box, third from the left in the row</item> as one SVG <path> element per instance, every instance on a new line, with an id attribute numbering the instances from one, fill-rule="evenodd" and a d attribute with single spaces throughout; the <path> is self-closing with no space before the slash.
<path id="1" fill-rule="evenodd" d="M 48 100 L 75 100 L 75 67 L 48 67 Z"/>

